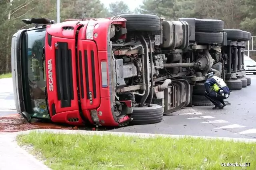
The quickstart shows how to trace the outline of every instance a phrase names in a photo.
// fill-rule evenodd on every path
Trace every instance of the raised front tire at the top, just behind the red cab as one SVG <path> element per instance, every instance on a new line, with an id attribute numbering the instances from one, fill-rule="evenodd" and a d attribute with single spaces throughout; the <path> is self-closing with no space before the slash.
<path id="1" fill-rule="evenodd" d="M 122 14 L 119 15 L 126 19 L 127 31 L 148 31 L 157 32 L 161 28 L 161 19 L 156 15 L 150 14 Z"/>

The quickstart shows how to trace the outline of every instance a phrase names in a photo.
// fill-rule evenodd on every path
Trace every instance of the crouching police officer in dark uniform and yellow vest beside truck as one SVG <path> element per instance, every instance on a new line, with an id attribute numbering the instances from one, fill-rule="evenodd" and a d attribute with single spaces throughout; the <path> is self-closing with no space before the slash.
<path id="1" fill-rule="evenodd" d="M 208 98 L 214 105 L 212 109 L 222 109 L 226 106 L 224 99 L 230 95 L 230 90 L 224 80 L 218 76 L 214 76 L 213 72 L 205 75 L 207 77 L 204 82 L 206 92 L 204 96 Z"/>

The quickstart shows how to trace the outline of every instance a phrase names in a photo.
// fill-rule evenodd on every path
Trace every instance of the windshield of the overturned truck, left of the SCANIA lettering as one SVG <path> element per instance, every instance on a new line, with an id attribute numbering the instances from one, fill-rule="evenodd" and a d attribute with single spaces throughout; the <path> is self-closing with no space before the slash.
<path id="1" fill-rule="evenodd" d="M 26 110 L 32 117 L 50 118 L 45 102 L 42 53 L 46 29 L 32 29 L 22 36 L 22 81 Z"/>

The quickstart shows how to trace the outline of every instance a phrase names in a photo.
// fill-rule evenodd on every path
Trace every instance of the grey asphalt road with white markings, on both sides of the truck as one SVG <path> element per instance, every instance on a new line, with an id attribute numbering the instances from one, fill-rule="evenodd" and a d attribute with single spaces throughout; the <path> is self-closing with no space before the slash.
<path id="1" fill-rule="evenodd" d="M 247 76 L 251 77 L 252 84 L 242 90 L 232 91 L 227 100 L 232 105 L 222 110 L 212 110 L 212 106 L 186 107 L 172 115 L 165 115 L 160 123 L 127 126 L 110 131 L 254 139 L 256 138 L 256 75 Z M 0 80 L 0 116 L 14 114 L 16 112 L 10 110 L 14 109 L 12 81 L 11 79 L 2 81 Z"/>

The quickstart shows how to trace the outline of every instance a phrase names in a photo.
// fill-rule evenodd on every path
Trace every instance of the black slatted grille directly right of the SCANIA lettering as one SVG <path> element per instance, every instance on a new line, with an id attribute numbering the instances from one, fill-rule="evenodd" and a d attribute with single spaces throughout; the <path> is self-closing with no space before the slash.
<path id="1" fill-rule="evenodd" d="M 58 42 L 55 57 L 57 97 L 61 103 L 60 107 L 71 107 L 71 100 L 74 100 L 74 85 L 71 49 L 68 49 L 68 43 Z"/>

